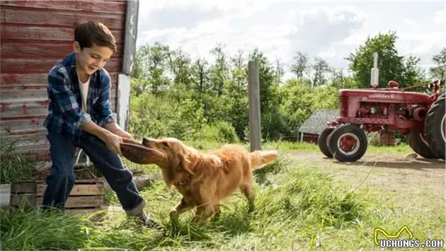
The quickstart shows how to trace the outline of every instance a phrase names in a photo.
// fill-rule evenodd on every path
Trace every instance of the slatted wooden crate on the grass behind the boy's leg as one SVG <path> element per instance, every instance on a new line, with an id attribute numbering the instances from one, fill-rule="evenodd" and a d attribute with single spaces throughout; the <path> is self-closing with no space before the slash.
<path id="1" fill-rule="evenodd" d="M 38 206 L 42 204 L 47 185 L 44 181 L 18 181 L 11 184 L 11 205 Z M 70 192 L 65 211 L 67 214 L 88 214 L 101 209 L 103 182 L 76 180 Z"/>

